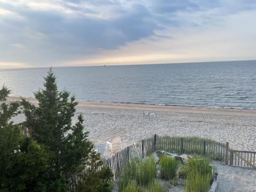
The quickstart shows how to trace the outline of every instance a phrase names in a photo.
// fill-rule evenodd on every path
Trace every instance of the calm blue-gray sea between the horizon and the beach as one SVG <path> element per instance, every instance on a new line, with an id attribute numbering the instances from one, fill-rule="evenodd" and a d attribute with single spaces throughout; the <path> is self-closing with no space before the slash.
<path id="1" fill-rule="evenodd" d="M 34 97 L 47 68 L 0 69 L 13 96 Z M 77 100 L 256 109 L 256 61 L 53 68 Z"/>

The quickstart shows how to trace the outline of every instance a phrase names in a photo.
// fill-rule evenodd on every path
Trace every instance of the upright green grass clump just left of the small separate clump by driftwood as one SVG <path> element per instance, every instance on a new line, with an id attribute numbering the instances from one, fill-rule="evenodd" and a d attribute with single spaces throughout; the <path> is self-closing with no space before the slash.
<path id="1" fill-rule="evenodd" d="M 156 177 L 156 164 L 153 156 L 138 163 L 135 179 L 138 185 L 148 186 Z"/>

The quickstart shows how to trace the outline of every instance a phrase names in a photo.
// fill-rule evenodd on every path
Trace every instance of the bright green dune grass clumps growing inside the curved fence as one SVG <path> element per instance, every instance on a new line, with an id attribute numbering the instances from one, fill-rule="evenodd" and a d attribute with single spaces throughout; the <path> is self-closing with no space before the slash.
<path id="1" fill-rule="evenodd" d="M 177 170 L 179 172 L 177 174 Z M 186 178 L 186 192 L 206 192 L 210 189 L 215 167 L 210 166 L 210 159 L 200 156 L 190 158 L 188 165 L 180 165 L 176 159 L 164 155 L 159 159 L 161 178 L 174 182 L 177 175 Z M 155 158 L 150 156 L 142 161 L 132 161 L 121 171 L 118 179 L 119 192 L 163 192 L 160 182 L 156 182 Z"/>

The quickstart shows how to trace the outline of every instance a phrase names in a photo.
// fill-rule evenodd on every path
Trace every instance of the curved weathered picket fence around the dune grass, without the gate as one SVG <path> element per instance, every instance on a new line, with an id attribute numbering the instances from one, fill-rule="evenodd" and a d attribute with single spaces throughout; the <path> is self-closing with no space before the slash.
<path id="1" fill-rule="evenodd" d="M 196 137 L 168 137 L 153 135 L 149 138 L 135 142 L 133 145 L 124 148 L 115 155 L 107 158 L 103 166 L 109 166 L 113 171 L 115 180 L 120 171 L 124 169 L 132 159 L 142 159 L 156 150 L 166 150 L 177 154 L 204 155 L 219 161 L 226 158 L 226 145 L 224 143 L 201 139 Z M 101 167 L 100 167 L 101 169 Z M 69 191 L 75 190 L 79 178 L 70 179 Z"/>

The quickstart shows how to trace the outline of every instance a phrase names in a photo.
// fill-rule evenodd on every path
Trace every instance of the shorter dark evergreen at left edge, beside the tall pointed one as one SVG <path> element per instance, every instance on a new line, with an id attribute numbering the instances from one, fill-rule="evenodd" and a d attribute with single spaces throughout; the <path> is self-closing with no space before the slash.
<path id="1" fill-rule="evenodd" d="M 13 124 L 19 107 L 19 102 L 0 105 L 0 191 L 45 191 L 51 184 L 45 179 L 50 153 Z"/>

